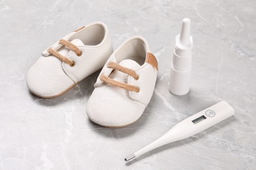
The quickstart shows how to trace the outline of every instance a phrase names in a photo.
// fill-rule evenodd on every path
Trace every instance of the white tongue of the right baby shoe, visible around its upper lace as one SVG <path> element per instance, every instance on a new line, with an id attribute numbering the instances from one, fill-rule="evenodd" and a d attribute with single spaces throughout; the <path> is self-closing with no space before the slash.
<path id="1" fill-rule="evenodd" d="M 139 67 L 139 63 L 136 61 L 133 61 L 132 59 L 125 59 L 119 63 L 119 65 L 126 67 L 127 69 L 135 69 Z M 119 82 L 127 83 L 127 77 L 128 75 L 126 73 L 123 73 L 121 71 L 113 71 L 113 73 L 110 75 L 114 80 L 117 80 Z"/>

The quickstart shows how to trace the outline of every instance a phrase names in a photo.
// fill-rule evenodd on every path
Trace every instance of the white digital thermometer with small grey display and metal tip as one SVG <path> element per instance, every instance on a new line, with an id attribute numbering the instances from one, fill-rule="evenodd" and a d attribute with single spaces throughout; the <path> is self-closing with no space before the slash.
<path id="1" fill-rule="evenodd" d="M 163 146 L 164 144 L 173 143 L 175 141 L 191 137 L 192 135 L 196 135 L 196 133 L 200 133 L 201 131 L 218 124 L 232 115 L 234 115 L 234 109 L 228 105 L 226 101 L 221 101 L 194 114 L 193 116 L 190 116 L 189 118 L 186 118 L 153 143 L 150 143 L 148 146 L 145 146 L 134 154 L 127 156 L 125 161 L 133 160 L 134 158 L 137 158 L 154 148 Z"/>

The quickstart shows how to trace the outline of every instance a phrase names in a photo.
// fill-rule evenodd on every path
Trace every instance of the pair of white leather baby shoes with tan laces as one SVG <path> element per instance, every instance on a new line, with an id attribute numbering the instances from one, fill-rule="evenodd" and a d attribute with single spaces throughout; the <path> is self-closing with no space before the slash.
<path id="1" fill-rule="evenodd" d="M 158 61 L 142 37 L 131 37 L 113 52 L 102 22 L 81 27 L 47 48 L 28 71 L 27 85 L 34 95 L 53 98 L 102 67 L 87 115 L 106 127 L 135 122 L 154 92 Z"/>

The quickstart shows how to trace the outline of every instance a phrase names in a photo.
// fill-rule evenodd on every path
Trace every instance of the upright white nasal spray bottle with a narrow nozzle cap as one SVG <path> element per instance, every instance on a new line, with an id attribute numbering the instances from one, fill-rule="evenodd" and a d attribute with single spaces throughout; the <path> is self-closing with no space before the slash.
<path id="1" fill-rule="evenodd" d="M 175 95 L 185 95 L 190 90 L 192 46 L 190 19 L 184 18 L 181 33 L 175 38 L 175 50 L 170 71 L 169 91 Z"/>

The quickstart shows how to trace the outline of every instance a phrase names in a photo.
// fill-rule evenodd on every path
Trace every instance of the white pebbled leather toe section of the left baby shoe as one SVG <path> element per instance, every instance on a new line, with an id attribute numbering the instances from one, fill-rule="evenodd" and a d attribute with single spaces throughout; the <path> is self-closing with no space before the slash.
<path id="1" fill-rule="evenodd" d="M 53 56 L 39 58 L 27 73 L 27 85 L 32 93 L 52 96 L 72 86 L 74 81 L 62 70 L 62 62 Z"/>

